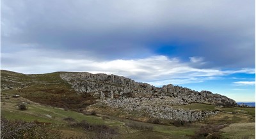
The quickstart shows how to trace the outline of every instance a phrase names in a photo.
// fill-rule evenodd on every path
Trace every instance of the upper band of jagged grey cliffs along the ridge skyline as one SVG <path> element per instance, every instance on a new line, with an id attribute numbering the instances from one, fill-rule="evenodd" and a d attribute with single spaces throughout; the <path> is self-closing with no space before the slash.
<path id="1" fill-rule="evenodd" d="M 207 103 L 212 105 L 235 106 L 236 101 L 212 94 L 209 91 L 192 91 L 186 87 L 172 84 L 163 87 L 154 87 L 147 83 L 140 83 L 130 78 L 116 75 L 91 74 L 91 73 L 61 73 L 60 77 L 80 93 L 104 99 L 120 98 L 163 98 L 168 96 L 173 105 L 187 105 L 188 103 Z M 170 104 L 172 104 L 170 103 Z"/>

